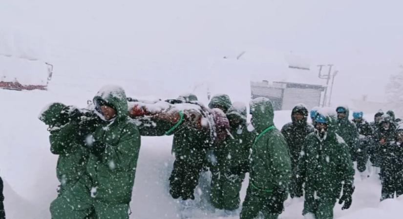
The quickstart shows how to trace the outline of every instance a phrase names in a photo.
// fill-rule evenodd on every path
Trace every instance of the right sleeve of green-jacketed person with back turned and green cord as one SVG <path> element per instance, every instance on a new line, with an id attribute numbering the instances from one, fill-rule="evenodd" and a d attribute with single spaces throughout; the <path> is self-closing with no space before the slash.
<path id="1" fill-rule="evenodd" d="M 280 132 L 275 132 L 272 138 L 269 138 L 267 148 L 269 149 L 269 153 L 267 154 L 270 156 L 270 162 L 267 164 L 272 164 L 275 179 L 274 186 L 285 190 L 290 183 L 291 160 L 287 143 Z"/>

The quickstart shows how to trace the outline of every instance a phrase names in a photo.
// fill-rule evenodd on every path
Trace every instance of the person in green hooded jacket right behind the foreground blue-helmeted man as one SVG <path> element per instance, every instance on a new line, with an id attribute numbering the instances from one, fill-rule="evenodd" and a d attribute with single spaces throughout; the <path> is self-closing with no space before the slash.
<path id="1" fill-rule="evenodd" d="M 356 161 L 357 149 L 359 144 L 359 134 L 354 123 L 348 120 L 350 110 L 347 107 L 338 107 L 336 109 L 338 116 L 338 131 L 337 133 L 344 139 L 350 149 L 351 159 Z"/>

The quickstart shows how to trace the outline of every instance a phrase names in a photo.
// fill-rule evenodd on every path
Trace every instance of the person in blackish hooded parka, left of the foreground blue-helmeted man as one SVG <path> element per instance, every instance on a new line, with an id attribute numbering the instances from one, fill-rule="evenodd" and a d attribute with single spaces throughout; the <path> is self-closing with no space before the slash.
<path id="1" fill-rule="evenodd" d="M 316 112 L 315 112 L 316 113 Z M 314 131 L 311 124 L 308 124 L 308 110 L 302 104 L 298 104 L 291 112 L 291 121 L 281 128 L 281 133 L 288 143 L 288 148 L 291 155 L 291 167 L 293 173 L 298 164 L 302 145 L 304 144 L 305 137 Z M 293 182 L 290 183 L 290 187 L 295 186 Z M 302 194 L 294 194 L 295 189 L 290 189 L 291 198 L 301 197 Z"/>

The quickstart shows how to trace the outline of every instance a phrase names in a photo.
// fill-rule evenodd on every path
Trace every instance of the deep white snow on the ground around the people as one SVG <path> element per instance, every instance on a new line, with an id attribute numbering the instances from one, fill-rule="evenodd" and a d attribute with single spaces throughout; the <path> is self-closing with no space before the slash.
<path id="1" fill-rule="evenodd" d="M 61 101 L 85 107 L 101 84 L 108 79 L 81 81 L 74 77 L 67 79 L 55 77 L 49 91 L 8 91 L 0 90 L 2 100 L 0 123 L 0 174 L 5 183 L 5 208 L 8 219 L 48 219 L 48 207 L 56 197 L 58 181 L 55 167 L 57 157 L 49 151 L 48 132 L 37 119 L 42 108 L 52 101 Z M 115 75 L 117 84 L 125 84 L 125 79 Z M 127 83 L 126 83 L 127 85 Z M 137 84 L 133 84 L 136 86 Z M 139 85 L 140 86 L 140 85 Z M 98 87 L 98 88 L 97 88 Z M 127 88 L 127 86 L 126 86 Z M 127 93 L 132 89 L 127 88 Z M 176 96 L 176 93 L 167 95 Z M 368 114 L 370 120 L 372 114 Z M 276 111 L 275 124 L 281 128 L 290 121 L 290 111 Z M 130 203 L 132 219 L 181 218 L 183 214 L 193 219 L 219 219 L 223 212 L 214 211 L 206 200 L 208 186 L 196 190 L 195 207 L 182 212 L 182 205 L 173 200 L 168 192 L 168 178 L 173 157 L 170 154 L 171 137 L 144 137 L 138 170 L 134 183 L 133 197 Z M 208 174 L 201 178 L 201 185 L 208 185 Z M 245 196 L 247 180 L 244 182 L 241 196 Z M 341 205 L 335 207 L 335 218 L 340 219 L 398 219 L 403 215 L 403 200 L 379 202 L 381 185 L 376 176 L 361 181 L 356 176 L 356 192 L 351 209 L 341 211 Z M 302 200 L 286 201 L 282 219 L 300 219 Z M 237 219 L 238 216 L 229 217 Z"/>

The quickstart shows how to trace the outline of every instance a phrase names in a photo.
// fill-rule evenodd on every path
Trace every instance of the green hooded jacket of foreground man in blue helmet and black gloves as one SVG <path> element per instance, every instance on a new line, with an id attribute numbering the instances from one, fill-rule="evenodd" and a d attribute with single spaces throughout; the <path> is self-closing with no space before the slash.
<path id="1" fill-rule="evenodd" d="M 304 213 L 315 212 L 316 197 L 336 200 L 342 184 L 350 188 L 354 182 L 353 162 L 348 146 L 336 133 L 337 121 L 331 116 L 325 117 L 328 124 L 326 138 L 320 141 L 315 132 L 309 134 L 297 165 L 297 189 L 302 189 L 305 183 Z"/>

